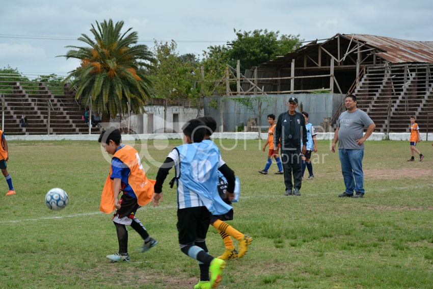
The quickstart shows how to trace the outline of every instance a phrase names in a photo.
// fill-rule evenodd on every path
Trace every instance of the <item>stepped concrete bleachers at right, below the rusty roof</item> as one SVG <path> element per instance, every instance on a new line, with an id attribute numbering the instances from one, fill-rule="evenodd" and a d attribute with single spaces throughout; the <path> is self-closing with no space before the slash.
<path id="1" fill-rule="evenodd" d="M 357 107 L 376 124 L 376 132 L 409 132 L 410 116 L 415 115 L 421 131 L 427 129 L 427 114 L 432 114 L 433 65 L 407 64 L 369 67 L 355 89 Z M 389 112 L 388 112 L 389 109 Z M 431 128 L 430 128 L 431 129 Z"/>

